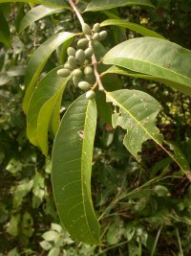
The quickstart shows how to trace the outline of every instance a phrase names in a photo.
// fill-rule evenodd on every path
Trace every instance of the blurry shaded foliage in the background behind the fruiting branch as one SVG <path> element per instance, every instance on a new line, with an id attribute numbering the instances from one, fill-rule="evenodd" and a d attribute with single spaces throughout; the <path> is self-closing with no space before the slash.
<path id="1" fill-rule="evenodd" d="M 181 46 L 191 49 L 186 0 L 153 1 L 157 9 L 123 7 L 121 18 L 152 29 Z M 176 255 L 191 254 L 191 186 L 171 160 L 152 142 L 145 143 L 142 162 L 123 147 L 124 131 L 114 130 L 98 120 L 94 152 L 92 190 L 100 216 L 103 246 L 77 244 L 60 226 L 50 181 L 51 160 L 26 138 L 22 112 L 24 74 L 29 57 L 53 33 L 76 32 L 72 12 L 56 12 L 18 34 L 29 4 L 1 4 L 0 12 L 9 20 L 10 40 L 2 39 L 0 50 L 0 253 L 9 255 Z M 90 24 L 107 18 L 85 14 Z M 0 21 L 1 24 L 3 21 Z M 109 30 L 106 47 L 124 36 Z M 8 33 L 8 32 L 7 32 Z M 115 35 L 115 40 L 111 40 Z M 126 37 L 137 36 L 127 30 Z M 3 36 L 1 36 L 3 38 Z M 8 36 L 6 36 L 8 38 Z M 59 48 L 47 62 L 44 73 L 65 60 Z M 154 96 L 163 107 L 158 118 L 165 139 L 176 143 L 191 164 L 191 102 L 155 81 L 120 77 L 124 88 L 140 89 Z M 62 111 L 76 98 L 68 87 Z M 110 122 L 108 122 L 110 123 Z M 52 148 L 52 140 L 50 147 Z"/>

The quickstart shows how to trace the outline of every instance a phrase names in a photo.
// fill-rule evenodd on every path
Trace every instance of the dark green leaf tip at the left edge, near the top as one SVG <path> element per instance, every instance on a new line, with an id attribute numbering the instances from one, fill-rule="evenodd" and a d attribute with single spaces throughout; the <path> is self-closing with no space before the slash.
<path id="1" fill-rule="evenodd" d="M 7 20 L 5 19 L 3 13 L 0 11 L 0 42 L 4 43 L 6 46 L 11 47 L 11 33 Z"/>

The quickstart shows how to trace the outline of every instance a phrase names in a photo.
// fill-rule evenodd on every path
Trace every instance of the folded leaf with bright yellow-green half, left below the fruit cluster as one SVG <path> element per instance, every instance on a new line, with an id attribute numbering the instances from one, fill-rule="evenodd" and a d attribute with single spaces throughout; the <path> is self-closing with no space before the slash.
<path id="1" fill-rule="evenodd" d="M 63 79 L 57 76 L 59 68 L 54 68 L 38 82 L 27 112 L 27 136 L 31 143 L 41 148 L 45 155 L 48 151 L 48 128 L 52 119 L 54 105 L 57 104 L 57 101 L 60 101 L 59 99 L 62 97 L 66 84 L 70 79 Z"/>

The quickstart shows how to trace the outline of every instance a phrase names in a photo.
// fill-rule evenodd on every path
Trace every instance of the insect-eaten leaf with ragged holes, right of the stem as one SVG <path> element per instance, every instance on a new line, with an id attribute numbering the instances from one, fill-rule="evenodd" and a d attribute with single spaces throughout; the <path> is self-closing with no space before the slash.
<path id="1" fill-rule="evenodd" d="M 152 139 L 163 151 L 168 153 L 173 161 L 180 166 L 180 169 L 184 171 L 184 174 L 188 176 L 189 165 L 186 159 L 177 147 L 163 140 L 159 129 L 155 125 L 160 110 L 157 100 L 138 90 L 123 89 L 107 92 L 106 95 L 107 102 L 112 102 L 113 105 L 119 107 L 119 111 L 116 109 L 113 114 L 113 126 L 127 129 L 123 143 L 138 161 L 140 161 L 138 152 L 141 151 L 142 143 Z M 171 149 L 167 150 L 164 145 L 170 146 Z"/>

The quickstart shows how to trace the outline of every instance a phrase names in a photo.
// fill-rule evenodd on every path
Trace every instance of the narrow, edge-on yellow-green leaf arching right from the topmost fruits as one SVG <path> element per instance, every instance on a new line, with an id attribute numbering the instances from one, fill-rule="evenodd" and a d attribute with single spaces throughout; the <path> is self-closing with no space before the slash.
<path id="1" fill-rule="evenodd" d="M 132 31 L 138 32 L 138 34 L 140 35 L 153 36 L 153 37 L 159 37 L 159 38 L 165 39 L 162 35 L 159 35 L 157 32 L 151 31 L 136 23 L 132 23 L 124 19 L 107 19 L 101 22 L 100 24 L 101 27 L 111 26 L 111 25 L 130 29 Z"/>

